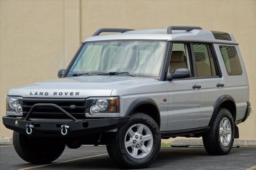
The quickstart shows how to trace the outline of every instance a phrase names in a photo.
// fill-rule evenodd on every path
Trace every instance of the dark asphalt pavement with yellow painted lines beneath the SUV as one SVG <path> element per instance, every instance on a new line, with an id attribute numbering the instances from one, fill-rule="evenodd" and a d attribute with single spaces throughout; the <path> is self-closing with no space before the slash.
<path id="1" fill-rule="evenodd" d="M 232 148 L 230 154 L 210 156 L 203 147 L 162 147 L 156 161 L 147 169 L 246 169 L 256 167 L 256 148 Z M 0 169 L 118 169 L 105 146 L 66 147 L 52 164 L 38 166 L 22 160 L 13 146 L 0 146 Z M 254 168 L 252 168 L 254 169 Z"/>

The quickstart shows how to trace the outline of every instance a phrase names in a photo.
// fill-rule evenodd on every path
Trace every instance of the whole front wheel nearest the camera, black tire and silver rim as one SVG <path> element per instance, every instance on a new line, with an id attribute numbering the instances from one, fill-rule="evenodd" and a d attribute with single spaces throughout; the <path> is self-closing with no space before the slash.
<path id="1" fill-rule="evenodd" d="M 145 168 L 156 159 L 161 147 L 157 123 L 144 113 L 134 113 L 107 143 L 110 158 L 127 168 Z"/>

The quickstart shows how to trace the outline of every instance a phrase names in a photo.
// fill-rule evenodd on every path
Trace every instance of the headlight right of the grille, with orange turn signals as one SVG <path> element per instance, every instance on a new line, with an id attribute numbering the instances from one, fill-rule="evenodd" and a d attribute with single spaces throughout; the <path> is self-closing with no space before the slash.
<path id="1" fill-rule="evenodd" d="M 90 97 L 86 99 L 86 113 L 119 113 L 119 97 Z"/>

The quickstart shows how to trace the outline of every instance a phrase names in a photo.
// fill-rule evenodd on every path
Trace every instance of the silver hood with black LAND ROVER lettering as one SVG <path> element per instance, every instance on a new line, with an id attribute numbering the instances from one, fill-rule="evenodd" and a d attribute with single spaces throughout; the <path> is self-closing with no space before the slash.
<path id="1" fill-rule="evenodd" d="M 111 96 L 114 89 L 145 83 L 146 77 L 98 75 L 64 77 L 10 89 L 8 95 L 42 98 L 87 98 Z"/>

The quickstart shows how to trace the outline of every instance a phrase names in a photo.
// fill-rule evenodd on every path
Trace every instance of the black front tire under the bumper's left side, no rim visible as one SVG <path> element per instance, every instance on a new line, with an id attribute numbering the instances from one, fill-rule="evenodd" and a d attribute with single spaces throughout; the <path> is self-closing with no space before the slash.
<path id="1" fill-rule="evenodd" d="M 13 145 L 20 158 L 34 164 L 56 160 L 66 146 L 51 138 L 36 138 L 16 131 L 13 132 Z"/>

